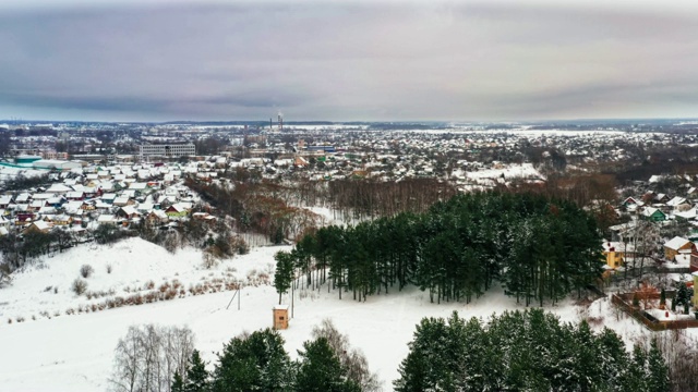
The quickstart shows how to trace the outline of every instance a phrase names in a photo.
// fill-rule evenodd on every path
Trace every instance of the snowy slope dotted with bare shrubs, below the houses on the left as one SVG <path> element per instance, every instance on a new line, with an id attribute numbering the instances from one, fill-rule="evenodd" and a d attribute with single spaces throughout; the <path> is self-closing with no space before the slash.
<path id="1" fill-rule="evenodd" d="M 255 273 L 253 270 L 269 274 L 273 255 L 282 248 L 253 248 L 250 255 L 225 260 L 207 270 L 202 267 L 201 250 L 194 248 L 179 249 L 172 255 L 139 237 L 113 245 L 81 245 L 43 257 L 13 273 L 12 285 L 0 291 L 0 320 L 2 323 L 9 319 L 16 322 L 17 318 L 31 321 L 33 317 L 46 317 L 40 316 L 41 313 L 51 317 L 57 313 L 65 315 L 68 309 L 101 304 L 107 298 L 127 297 L 136 292 L 145 294 L 151 291 L 148 284 L 157 290 L 173 280 L 178 280 L 184 290 L 214 279 L 245 281 L 249 273 Z M 73 281 L 82 279 L 80 269 L 83 265 L 94 269 L 93 275 L 84 279 L 87 291 L 111 295 L 88 299 L 71 291 Z M 108 266 L 111 272 L 108 272 Z"/>

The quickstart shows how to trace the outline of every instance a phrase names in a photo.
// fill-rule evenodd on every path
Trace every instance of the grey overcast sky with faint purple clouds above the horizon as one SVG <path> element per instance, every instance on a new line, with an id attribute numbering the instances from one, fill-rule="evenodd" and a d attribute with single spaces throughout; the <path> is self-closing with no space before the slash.
<path id="1" fill-rule="evenodd" d="M 696 118 L 694 2 L 5 0 L 0 119 Z"/>

